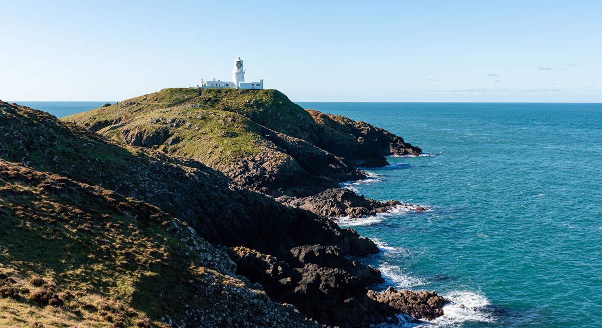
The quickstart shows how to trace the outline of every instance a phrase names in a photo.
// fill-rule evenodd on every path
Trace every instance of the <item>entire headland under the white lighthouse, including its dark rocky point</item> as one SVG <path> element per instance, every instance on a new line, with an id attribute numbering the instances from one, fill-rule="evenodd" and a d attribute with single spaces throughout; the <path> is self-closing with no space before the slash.
<path id="1" fill-rule="evenodd" d="M 116 141 L 199 160 L 241 186 L 278 196 L 309 196 L 387 165 L 388 154 L 420 148 L 370 124 L 332 124 L 276 90 L 164 89 L 66 117 Z M 357 127 L 354 125 L 357 124 Z M 353 129 L 351 128 L 353 127 Z"/>

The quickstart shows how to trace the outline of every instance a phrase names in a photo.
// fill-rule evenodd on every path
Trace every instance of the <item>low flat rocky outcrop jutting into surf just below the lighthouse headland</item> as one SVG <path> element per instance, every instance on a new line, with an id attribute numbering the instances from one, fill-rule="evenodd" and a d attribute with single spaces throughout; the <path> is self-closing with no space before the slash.
<path id="1" fill-rule="evenodd" d="M 380 202 L 357 195 L 352 190 L 332 188 L 303 198 L 278 198 L 285 205 L 303 208 L 326 217 L 362 217 L 383 213 L 402 205 L 398 201 Z"/>

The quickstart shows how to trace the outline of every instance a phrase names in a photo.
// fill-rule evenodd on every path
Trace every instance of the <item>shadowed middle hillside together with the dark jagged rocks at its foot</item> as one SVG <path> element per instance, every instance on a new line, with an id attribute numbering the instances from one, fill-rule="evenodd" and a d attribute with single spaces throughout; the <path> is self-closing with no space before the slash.
<path id="1" fill-rule="evenodd" d="M 378 252 L 372 241 L 240 187 L 196 160 L 109 141 L 45 112 L 2 102 L 0 159 L 157 206 L 228 250 L 236 273 L 262 282 L 271 299 L 320 323 L 367 327 L 399 312 L 369 293 L 369 286 L 382 282 L 380 273 L 349 258 Z M 57 204 L 69 204 L 68 196 Z M 28 261 L 37 260 L 23 258 Z M 273 261 L 286 270 L 270 269 Z"/>

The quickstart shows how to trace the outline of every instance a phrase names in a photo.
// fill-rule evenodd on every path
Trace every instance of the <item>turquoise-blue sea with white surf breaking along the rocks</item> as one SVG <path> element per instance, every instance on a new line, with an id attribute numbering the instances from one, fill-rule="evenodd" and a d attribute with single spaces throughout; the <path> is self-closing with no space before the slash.
<path id="1" fill-rule="evenodd" d="M 106 102 L 20 103 L 63 117 Z M 299 105 L 424 151 L 342 184 L 427 208 L 339 222 L 379 245 L 363 261 L 385 285 L 452 300 L 436 320 L 383 328 L 602 327 L 602 104 Z"/>

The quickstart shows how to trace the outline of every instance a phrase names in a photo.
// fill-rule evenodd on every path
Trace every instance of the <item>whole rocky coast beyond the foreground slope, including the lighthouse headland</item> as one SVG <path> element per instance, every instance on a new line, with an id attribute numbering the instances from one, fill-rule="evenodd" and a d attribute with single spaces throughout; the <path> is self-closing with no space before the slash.
<path id="1" fill-rule="evenodd" d="M 434 292 L 370 290 L 383 279 L 361 257 L 379 249 L 333 220 L 403 206 L 338 186 L 365 178 L 360 166 L 420 148 L 367 123 L 305 111 L 278 91 L 213 91 L 128 100 L 119 126 L 110 107 L 58 121 L 0 103 L 0 159 L 160 208 L 228 254 L 236 275 L 324 327 L 442 315 L 446 301 Z"/>

